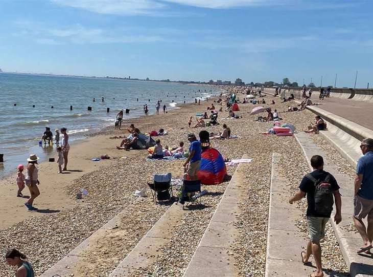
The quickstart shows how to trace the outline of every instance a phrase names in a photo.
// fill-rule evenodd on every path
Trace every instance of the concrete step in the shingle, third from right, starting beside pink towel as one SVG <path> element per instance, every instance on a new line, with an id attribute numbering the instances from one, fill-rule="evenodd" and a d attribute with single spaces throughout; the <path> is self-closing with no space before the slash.
<path id="1" fill-rule="evenodd" d="M 247 157 L 244 155 L 242 158 Z M 240 199 L 247 194 L 247 188 L 243 185 L 243 173 L 248 169 L 249 163 L 238 165 L 185 270 L 184 277 L 238 275 L 234 266 L 234 258 L 229 250 L 239 233 L 235 226 L 235 215 L 241 211 L 239 208 Z"/>

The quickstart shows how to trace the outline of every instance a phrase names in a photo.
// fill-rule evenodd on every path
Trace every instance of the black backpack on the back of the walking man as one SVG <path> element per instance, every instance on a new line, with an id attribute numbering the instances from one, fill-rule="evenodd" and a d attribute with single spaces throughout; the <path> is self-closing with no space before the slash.
<path id="1" fill-rule="evenodd" d="M 311 174 L 307 174 L 306 177 L 310 179 L 315 186 L 315 211 L 321 216 L 329 217 L 334 204 L 333 188 L 330 184 L 331 175 L 328 174 L 324 180 L 317 180 Z"/>

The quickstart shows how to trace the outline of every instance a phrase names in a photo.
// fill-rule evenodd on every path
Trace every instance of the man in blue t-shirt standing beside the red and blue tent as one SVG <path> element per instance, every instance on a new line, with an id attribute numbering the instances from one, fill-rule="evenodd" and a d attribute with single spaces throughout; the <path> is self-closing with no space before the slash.
<path id="1" fill-rule="evenodd" d="M 188 134 L 188 140 L 191 143 L 189 146 L 189 157 L 184 162 L 184 172 L 188 174 L 188 180 L 198 180 L 198 171 L 201 165 L 201 143 L 197 140 L 194 134 Z"/>

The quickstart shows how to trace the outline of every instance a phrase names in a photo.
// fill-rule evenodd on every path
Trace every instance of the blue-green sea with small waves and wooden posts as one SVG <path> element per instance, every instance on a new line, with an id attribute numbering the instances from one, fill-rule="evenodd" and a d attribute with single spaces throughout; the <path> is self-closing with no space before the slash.
<path id="1" fill-rule="evenodd" d="M 184 101 L 203 101 L 219 93 L 207 85 L 0 73 L 0 154 L 4 154 L 0 179 L 15 173 L 18 164 L 26 164 L 31 153 L 41 161 L 55 156 L 55 145 L 39 144 L 46 126 L 53 134 L 66 127 L 74 144 L 89 133 L 113 126 L 120 110 L 129 109 L 124 115 L 126 124 L 131 118 L 145 116 L 145 104 L 149 114 L 154 114 L 158 100 L 173 110 Z"/>

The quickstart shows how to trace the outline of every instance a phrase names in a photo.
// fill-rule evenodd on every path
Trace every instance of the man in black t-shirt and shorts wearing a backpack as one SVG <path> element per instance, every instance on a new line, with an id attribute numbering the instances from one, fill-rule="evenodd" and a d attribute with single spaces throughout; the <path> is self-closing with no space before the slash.
<path id="1" fill-rule="evenodd" d="M 336 205 L 334 221 L 337 224 L 342 221 L 342 201 L 337 181 L 330 173 L 323 171 L 323 158 L 319 155 L 312 156 L 311 166 L 314 171 L 303 178 L 298 191 L 289 199 L 289 203 L 293 204 L 307 194 L 307 222 L 310 240 L 307 244 L 307 251 L 302 251 L 300 255 L 302 262 L 307 264 L 310 255 L 313 254 L 316 272 L 312 273 L 311 277 L 322 277 L 320 240 L 325 236 L 325 225 L 332 214 L 334 202 Z"/>

